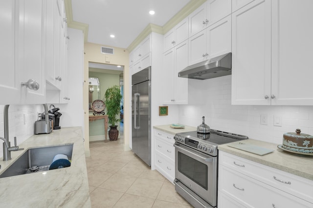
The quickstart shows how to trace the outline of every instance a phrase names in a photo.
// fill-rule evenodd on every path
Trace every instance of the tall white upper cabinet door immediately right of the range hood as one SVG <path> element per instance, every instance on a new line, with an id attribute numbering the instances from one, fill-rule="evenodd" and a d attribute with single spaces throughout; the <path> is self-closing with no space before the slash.
<path id="1" fill-rule="evenodd" d="M 270 104 L 270 9 L 255 0 L 232 13 L 232 104 Z"/>

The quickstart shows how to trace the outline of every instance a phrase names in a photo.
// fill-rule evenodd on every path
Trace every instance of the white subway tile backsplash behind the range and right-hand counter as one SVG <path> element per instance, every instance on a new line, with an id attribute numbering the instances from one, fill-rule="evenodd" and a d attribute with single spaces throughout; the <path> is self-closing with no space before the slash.
<path id="1" fill-rule="evenodd" d="M 313 106 L 231 105 L 231 76 L 188 82 L 190 104 L 179 106 L 179 123 L 197 127 L 205 116 L 211 129 L 276 144 L 295 129 L 313 135 Z M 261 124 L 261 115 L 267 117 L 267 125 Z M 281 126 L 274 126 L 274 116 Z"/>

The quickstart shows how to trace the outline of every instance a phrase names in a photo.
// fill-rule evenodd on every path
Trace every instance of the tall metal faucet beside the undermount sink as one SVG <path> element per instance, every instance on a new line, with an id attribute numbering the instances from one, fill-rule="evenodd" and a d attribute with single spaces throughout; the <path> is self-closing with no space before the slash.
<path id="1" fill-rule="evenodd" d="M 4 138 L 0 137 L 3 142 L 3 160 L 11 160 L 11 151 L 19 151 L 24 150 L 24 148 L 19 148 L 16 145 L 16 136 L 14 137 L 14 146 L 11 147 L 11 143 L 9 142 L 9 116 L 8 116 L 9 105 L 4 106 Z"/>

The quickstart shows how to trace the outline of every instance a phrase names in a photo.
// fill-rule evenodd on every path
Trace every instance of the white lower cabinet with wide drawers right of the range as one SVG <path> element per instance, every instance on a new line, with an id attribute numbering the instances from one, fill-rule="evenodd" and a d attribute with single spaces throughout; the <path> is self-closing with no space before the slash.
<path id="1" fill-rule="evenodd" d="M 219 208 L 312 208 L 312 187 L 308 179 L 219 152 Z"/>

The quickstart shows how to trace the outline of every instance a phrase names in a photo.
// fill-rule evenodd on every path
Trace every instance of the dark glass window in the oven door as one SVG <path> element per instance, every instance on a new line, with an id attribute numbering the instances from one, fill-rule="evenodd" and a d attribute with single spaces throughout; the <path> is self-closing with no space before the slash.
<path id="1" fill-rule="evenodd" d="M 208 167 L 181 152 L 178 152 L 178 170 L 203 189 L 208 188 Z"/>

